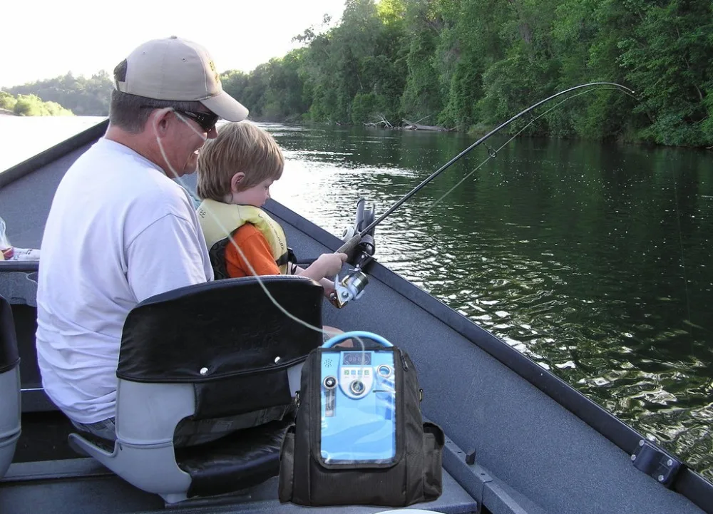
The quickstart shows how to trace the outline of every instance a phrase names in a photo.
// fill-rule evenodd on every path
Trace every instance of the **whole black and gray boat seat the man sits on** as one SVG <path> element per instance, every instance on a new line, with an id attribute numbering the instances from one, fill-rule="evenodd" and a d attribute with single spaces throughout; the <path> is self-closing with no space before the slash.
<path id="1" fill-rule="evenodd" d="M 322 326 L 324 289 L 311 279 L 261 277 L 285 311 Z M 284 314 L 254 277 L 158 294 L 123 327 L 116 375 L 116 443 L 72 433 L 71 445 L 168 503 L 229 493 L 279 473 L 291 419 L 245 428 L 211 443 L 174 448 L 183 418 L 205 420 L 287 406 L 302 364 L 322 334 Z"/>

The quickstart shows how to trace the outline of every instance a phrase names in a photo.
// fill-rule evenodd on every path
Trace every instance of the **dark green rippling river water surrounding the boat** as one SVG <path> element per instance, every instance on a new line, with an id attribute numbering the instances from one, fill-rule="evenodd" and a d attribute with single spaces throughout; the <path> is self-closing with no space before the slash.
<path id="1" fill-rule="evenodd" d="M 97 120 L 0 116 L 0 170 Z M 335 235 L 359 195 L 379 215 L 474 140 L 262 126 L 287 160 L 272 196 Z M 379 262 L 713 480 L 713 154 L 521 138 L 446 195 L 487 157 L 379 225 Z"/>

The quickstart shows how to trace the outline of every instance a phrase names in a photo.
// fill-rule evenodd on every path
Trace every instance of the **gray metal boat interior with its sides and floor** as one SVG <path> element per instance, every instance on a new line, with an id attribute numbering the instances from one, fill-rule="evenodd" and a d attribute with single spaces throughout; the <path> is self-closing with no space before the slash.
<path id="1" fill-rule="evenodd" d="M 0 173 L 0 217 L 14 245 L 40 247 L 56 185 L 105 128 L 106 122 Z M 192 180 L 187 182 L 193 187 Z M 298 257 L 317 257 L 342 243 L 277 202 L 270 201 L 266 208 L 284 227 Z M 353 215 L 345 212 L 345 226 L 353 222 Z M 325 301 L 323 322 L 345 331 L 384 336 L 406 350 L 416 364 L 424 389 L 424 418 L 443 428 L 446 446 L 443 495 L 411 508 L 442 513 L 713 513 L 711 483 L 684 464 L 668 487 L 637 469 L 631 456 L 640 448 L 640 433 L 379 264 L 378 249 L 377 227 L 376 259 L 367 269 L 364 296 L 344 309 Z M 48 401 L 39 381 L 34 354 L 35 294 L 32 264 L 0 262 L 0 295 L 9 300 L 14 314 L 22 384 L 22 435 L 14 461 L 0 480 L 1 512 L 325 510 L 279 503 L 276 477 L 241 493 L 167 506 L 158 495 L 144 493 L 93 459 L 74 453 L 67 442 L 72 430 Z M 376 513 L 389 509 L 327 510 Z"/>

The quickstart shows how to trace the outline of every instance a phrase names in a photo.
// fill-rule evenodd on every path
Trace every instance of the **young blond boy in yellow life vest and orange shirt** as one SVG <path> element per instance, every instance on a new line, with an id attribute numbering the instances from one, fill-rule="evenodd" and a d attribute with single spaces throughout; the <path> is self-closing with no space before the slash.
<path id="1" fill-rule="evenodd" d="M 223 125 L 217 138 L 201 148 L 198 220 L 215 278 L 298 274 L 322 284 L 329 298 L 334 282 L 325 277 L 334 277 L 347 255 L 326 253 L 307 269 L 294 266 L 288 262 L 282 227 L 260 208 L 270 198 L 270 185 L 282 176 L 283 168 L 282 151 L 272 135 L 247 121 Z M 227 238 L 229 234 L 235 244 Z"/>

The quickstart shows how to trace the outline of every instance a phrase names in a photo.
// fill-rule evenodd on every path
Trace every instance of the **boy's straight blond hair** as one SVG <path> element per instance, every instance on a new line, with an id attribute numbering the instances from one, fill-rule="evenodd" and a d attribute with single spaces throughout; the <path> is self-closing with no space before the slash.
<path id="1" fill-rule="evenodd" d="M 196 192 L 202 200 L 224 202 L 235 173 L 245 173 L 239 186 L 244 191 L 263 180 L 277 180 L 283 168 L 284 157 L 272 135 L 249 121 L 226 123 L 200 149 Z"/>

